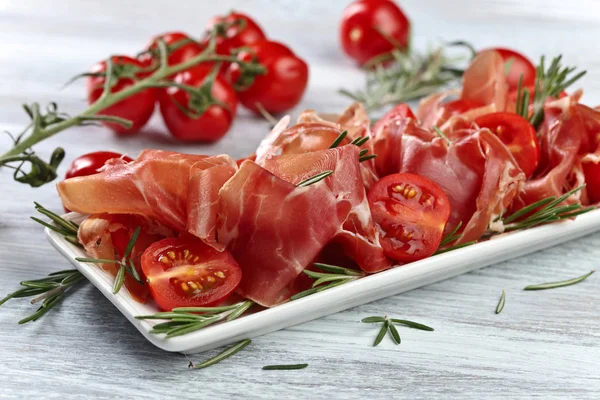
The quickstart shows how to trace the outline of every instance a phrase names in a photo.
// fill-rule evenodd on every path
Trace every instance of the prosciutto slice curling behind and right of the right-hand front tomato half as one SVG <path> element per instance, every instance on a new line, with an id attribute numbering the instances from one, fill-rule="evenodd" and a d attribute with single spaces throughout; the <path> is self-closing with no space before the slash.
<path id="1" fill-rule="evenodd" d="M 450 200 L 446 230 L 462 222 L 456 244 L 479 239 L 521 189 L 525 175 L 506 146 L 489 130 L 455 132 L 451 142 L 412 119 L 390 121 L 377 133 L 381 175 L 410 172 L 440 185 Z"/>

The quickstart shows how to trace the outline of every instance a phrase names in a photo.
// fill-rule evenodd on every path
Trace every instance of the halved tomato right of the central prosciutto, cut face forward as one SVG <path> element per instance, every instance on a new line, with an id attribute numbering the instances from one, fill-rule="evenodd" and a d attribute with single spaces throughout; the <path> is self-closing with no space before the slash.
<path id="1" fill-rule="evenodd" d="M 450 217 L 450 201 L 437 184 L 419 175 L 392 174 L 367 197 L 388 257 L 412 262 L 435 253 Z"/>

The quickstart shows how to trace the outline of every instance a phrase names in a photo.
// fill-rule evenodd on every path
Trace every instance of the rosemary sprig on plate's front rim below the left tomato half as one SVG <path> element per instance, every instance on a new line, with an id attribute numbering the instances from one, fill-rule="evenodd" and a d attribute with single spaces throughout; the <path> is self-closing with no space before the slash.
<path id="1" fill-rule="evenodd" d="M 195 332 L 215 322 L 231 321 L 246 312 L 254 303 L 242 301 L 230 306 L 221 307 L 180 307 L 172 311 L 159 312 L 152 315 L 139 315 L 136 319 L 159 319 L 167 322 L 156 324 L 150 333 L 165 334 L 167 338 Z"/>

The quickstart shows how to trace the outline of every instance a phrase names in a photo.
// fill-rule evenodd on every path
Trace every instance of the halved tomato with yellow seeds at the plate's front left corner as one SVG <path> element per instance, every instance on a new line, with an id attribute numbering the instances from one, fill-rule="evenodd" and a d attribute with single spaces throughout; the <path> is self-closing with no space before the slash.
<path id="1" fill-rule="evenodd" d="M 200 240 L 164 239 L 142 255 L 142 270 L 160 308 L 212 306 L 239 285 L 242 270 L 228 251 Z"/>

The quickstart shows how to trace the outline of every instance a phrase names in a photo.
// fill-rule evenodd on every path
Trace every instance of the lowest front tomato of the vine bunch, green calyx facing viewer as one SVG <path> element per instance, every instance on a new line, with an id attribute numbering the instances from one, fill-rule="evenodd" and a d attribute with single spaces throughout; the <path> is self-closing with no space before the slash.
<path id="1" fill-rule="evenodd" d="M 237 110 L 235 90 L 217 75 L 209 91 L 211 69 L 202 65 L 177 75 L 175 82 L 198 88 L 197 95 L 171 86 L 160 96 L 160 112 L 169 132 L 179 140 L 214 142 L 227 133 Z M 206 106 L 208 93 L 223 105 Z M 190 115 L 186 115 L 182 109 Z M 194 116 L 197 116 L 196 118 Z"/>

